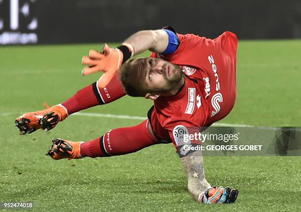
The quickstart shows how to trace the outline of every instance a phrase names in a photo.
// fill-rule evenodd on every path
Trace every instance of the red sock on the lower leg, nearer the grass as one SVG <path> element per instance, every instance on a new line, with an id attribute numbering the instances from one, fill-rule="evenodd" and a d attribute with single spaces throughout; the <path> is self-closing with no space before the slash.
<path id="1" fill-rule="evenodd" d="M 110 157 L 137 152 L 158 144 L 148 129 L 149 120 L 134 127 L 110 130 L 103 136 L 81 144 L 83 157 Z"/>

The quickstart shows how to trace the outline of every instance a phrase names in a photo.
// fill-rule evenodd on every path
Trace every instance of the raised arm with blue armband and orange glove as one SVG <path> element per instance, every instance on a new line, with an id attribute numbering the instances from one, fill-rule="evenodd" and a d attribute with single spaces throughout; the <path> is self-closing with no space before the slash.
<path id="1" fill-rule="evenodd" d="M 105 87 L 120 69 L 121 64 L 133 55 L 150 50 L 155 53 L 170 54 L 177 50 L 179 40 L 175 32 L 168 29 L 143 30 L 127 38 L 119 47 L 111 49 L 104 45 L 102 53 L 90 50 L 89 56 L 84 56 L 82 64 L 87 65 L 82 71 L 89 75 L 98 71 L 104 74 L 98 80 L 100 88 Z"/>

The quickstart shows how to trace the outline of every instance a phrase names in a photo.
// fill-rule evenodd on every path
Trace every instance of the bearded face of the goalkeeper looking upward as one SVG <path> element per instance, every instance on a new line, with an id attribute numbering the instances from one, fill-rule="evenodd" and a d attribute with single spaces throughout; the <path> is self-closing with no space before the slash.
<path id="1" fill-rule="evenodd" d="M 151 93 L 164 93 L 174 89 L 181 81 L 181 68 L 159 58 L 137 58 L 133 63 L 142 70 L 144 88 Z"/>

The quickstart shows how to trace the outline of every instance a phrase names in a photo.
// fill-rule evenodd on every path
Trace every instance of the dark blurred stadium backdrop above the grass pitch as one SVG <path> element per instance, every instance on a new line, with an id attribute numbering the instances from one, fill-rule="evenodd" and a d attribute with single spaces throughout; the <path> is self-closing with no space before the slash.
<path id="1" fill-rule="evenodd" d="M 18 2 L 18 27 L 11 27 L 12 2 Z M 29 29 L 32 20 L 37 25 Z M 0 43 L 4 32 L 36 34 L 6 44 L 119 42 L 163 26 L 209 38 L 225 30 L 240 39 L 300 38 L 301 1 L 0 0 Z"/>

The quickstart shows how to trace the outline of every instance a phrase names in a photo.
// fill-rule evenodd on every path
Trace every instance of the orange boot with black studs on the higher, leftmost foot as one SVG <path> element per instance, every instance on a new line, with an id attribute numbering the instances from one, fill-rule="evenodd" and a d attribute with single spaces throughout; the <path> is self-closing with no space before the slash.
<path id="1" fill-rule="evenodd" d="M 16 119 L 15 126 L 19 128 L 20 134 L 24 135 L 38 129 L 47 132 L 68 116 L 66 110 L 61 106 L 49 107 L 47 103 L 44 103 L 44 106 L 46 107 L 44 110 L 24 113 Z"/>

